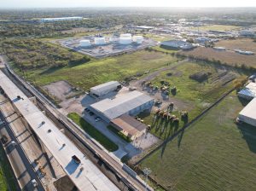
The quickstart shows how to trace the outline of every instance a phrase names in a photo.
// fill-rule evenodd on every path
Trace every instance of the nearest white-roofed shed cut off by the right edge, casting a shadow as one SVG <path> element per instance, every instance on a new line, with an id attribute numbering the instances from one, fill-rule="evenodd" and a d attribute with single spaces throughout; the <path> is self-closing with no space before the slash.
<path id="1" fill-rule="evenodd" d="M 256 126 L 256 98 L 253 98 L 238 115 L 238 119 L 244 123 Z"/>

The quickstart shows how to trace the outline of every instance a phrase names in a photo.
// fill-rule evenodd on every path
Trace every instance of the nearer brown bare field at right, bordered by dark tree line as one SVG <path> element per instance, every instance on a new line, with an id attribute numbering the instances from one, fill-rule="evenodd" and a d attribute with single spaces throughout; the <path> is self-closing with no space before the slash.
<path id="1" fill-rule="evenodd" d="M 194 55 L 201 59 L 210 61 L 221 61 L 231 66 L 241 66 L 242 64 L 248 67 L 256 68 L 256 55 L 241 55 L 231 51 L 219 51 L 211 48 L 199 47 L 190 51 L 179 51 L 183 55 Z"/>

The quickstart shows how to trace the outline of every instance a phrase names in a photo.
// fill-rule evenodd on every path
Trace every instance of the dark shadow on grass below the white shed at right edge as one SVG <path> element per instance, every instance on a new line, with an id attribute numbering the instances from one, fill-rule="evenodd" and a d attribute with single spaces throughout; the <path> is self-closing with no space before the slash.
<path id="1" fill-rule="evenodd" d="M 253 153 L 256 153 L 256 128 L 249 124 L 236 124 L 240 130 L 242 138 L 247 142 L 247 146 Z"/>

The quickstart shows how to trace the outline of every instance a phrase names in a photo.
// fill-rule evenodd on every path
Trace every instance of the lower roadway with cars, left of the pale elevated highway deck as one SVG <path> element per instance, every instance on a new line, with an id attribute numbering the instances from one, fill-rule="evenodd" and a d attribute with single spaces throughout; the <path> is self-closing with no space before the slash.
<path id="1" fill-rule="evenodd" d="M 8 142 L 3 144 L 3 148 L 7 153 L 9 162 L 15 172 L 15 177 L 19 183 L 20 190 L 44 191 L 43 185 L 38 180 L 36 172 L 33 171 L 32 165 L 29 163 L 28 159 L 26 159 L 26 154 L 23 153 L 23 150 L 20 148 L 20 145 L 10 129 L 8 121 L 5 120 L 2 111 L 0 112 L 0 120 L 5 121 L 6 123 L 0 125 L 0 136 L 6 136 L 8 138 Z M 16 142 L 16 145 L 12 144 L 12 141 Z M 35 179 L 38 182 L 38 187 L 33 187 L 32 179 Z"/>

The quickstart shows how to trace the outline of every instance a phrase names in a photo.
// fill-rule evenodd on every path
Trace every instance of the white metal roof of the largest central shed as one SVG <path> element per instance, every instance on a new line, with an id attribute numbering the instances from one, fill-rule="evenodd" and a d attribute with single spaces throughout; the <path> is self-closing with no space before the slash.
<path id="1" fill-rule="evenodd" d="M 139 107 L 153 98 L 139 91 L 131 91 L 127 94 L 116 96 L 114 99 L 105 99 L 96 102 L 90 107 L 96 111 L 103 113 L 108 119 L 115 119 L 124 113 L 128 113 L 131 109 Z"/>

